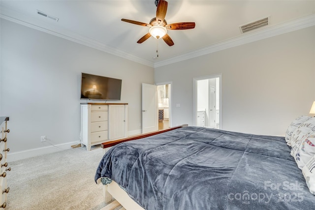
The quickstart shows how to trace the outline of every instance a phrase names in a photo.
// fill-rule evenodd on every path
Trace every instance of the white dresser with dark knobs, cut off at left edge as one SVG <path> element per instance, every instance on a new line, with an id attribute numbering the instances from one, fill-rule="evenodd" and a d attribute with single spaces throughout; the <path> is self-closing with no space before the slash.
<path id="1" fill-rule="evenodd" d="M 10 132 L 7 129 L 7 121 L 9 117 L 0 117 L 1 124 L 1 135 L 0 135 L 0 192 L 2 195 L 0 196 L 0 209 L 5 209 L 6 207 L 6 196 L 9 192 L 10 188 L 6 186 L 6 176 L 7 172 L 11 171 L 11 168 L 8 167 L 8 163 L 6 162 L 7 152 L 9 148 L 7 148 L 7 133 Z"/>

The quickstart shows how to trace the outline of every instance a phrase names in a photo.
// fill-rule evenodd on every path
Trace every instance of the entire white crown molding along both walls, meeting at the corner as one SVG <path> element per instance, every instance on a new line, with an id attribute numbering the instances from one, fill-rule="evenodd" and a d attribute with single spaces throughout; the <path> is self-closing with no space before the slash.
<path id="1" fill-rule="evenodd" d="M 11 14 L 11 16 L 7 14 Z M 109 54 L 112 54 L 112 55 L 115 55 L 115 56 L 118 56 L 127 60 L 138 62 L 144 65 L 150 66 L 150 67 L 154 67 L 154 68 L 168 65 L 175 62 L 180 62 L 183 60 L 196 58 L 196 57 L 207 55 L 207 54 L 211 54 L 211 53 L 225 50 L 228 48 L 240 46 L 240 45 L 251 43 L 254 41 L 261 40 L 261 39 L 291 32 L 294 30 L 300 30 L 300 29 L 315 26 L 315 14 L 312 14 L 312 15 L 302 17 L 296 20 L 292 20 L 283 24 L 270 26 L 268 28 L 261 29 L 258 31 L 252 31 L 248 34 L 242 34 L 238 37 L 227 39 L 220 43 L 213 44 L 213 45 L 203 47 L 203 48 L 199 48 L 197 50 L 190 51 L 188 53 L 184 53 L 181 55 L 177 55 L 166 60 L 152 62 L 150 60 L 145 60 L 143 58 L 140 58 L 134 54 L 127 53 L 126 51 L 108 46 L 102 42 L 96 41 L 89 37 L 82 36 L 72 31 L 49 25 L 45 22 L 38 21 L 37 19 L 23 15 L 7 7 L 3 7 L 3 6 L 1 7 L 0 18 L 20 24 L 20 25 L 24 25 L 26 27 L 29 27 L 35 30 L 40 30 L 40 31 L 43 31 L 43 32 L 46 32 L 55 36 L 59 36 L 64 39 L 67 39 L 67 40 L 70 40 L 70 41 L 73 41 L 73 42 L 76 42 L 76 43 L 79 43 L 88 47 L 92 47 L 97 50 L 100 50 L 100 51 L 103 51 L 103 52 L 106 52 L 106 53 L 109 53 Z M 35 24 L 31 24 L 31 23 L 35 23 Z M 51 28 L 52 30 L 48 30 L 48 28 Z"/>

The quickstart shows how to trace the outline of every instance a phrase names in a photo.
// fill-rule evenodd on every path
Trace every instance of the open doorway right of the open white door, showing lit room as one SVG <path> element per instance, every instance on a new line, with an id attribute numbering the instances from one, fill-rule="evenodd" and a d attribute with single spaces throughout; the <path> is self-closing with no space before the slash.
<path id="1" fill-rule="evenodd" d="M 158 84 L 158 130 L 171 127 L 171 83 Z"/>

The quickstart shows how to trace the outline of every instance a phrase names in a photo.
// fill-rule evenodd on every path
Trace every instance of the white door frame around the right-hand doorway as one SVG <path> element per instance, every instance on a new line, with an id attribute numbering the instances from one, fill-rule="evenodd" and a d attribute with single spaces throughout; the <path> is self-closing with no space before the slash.
<path id="1" fill-rule="evenodd" d="M 198 80 L 207 80 L 207 79 L 214 79 L 219 78 L 219 129 L 223 129 L 223 121 L 222 121 L 222 73 L 220 74 L 213 74 L 201 77 L 194 77 L 192 78 L 192 124 L 197 125 L 197 81 Z"/>

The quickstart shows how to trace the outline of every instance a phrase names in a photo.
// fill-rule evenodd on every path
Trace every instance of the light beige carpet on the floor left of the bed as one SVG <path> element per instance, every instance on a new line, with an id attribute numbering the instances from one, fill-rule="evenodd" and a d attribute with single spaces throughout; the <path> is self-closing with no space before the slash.
<path id="1" fill-rule="evenodd" d="M 94 181 L 102 149 L 63 150 L 9 163 L 8 210 L 100 210 L 102 186 Z"/>

